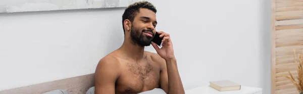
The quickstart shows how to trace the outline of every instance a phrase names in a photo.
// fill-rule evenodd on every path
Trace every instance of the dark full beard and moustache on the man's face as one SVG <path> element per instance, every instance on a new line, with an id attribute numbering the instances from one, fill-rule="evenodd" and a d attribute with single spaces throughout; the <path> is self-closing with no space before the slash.
<path id="1" fill-rule="evenodd" d="M 153 38 L 143 35 L 143 31 L 149 31 L 154 34 L 152 30 L 143 29 L 140 31 L 132 26 L 130 31 L 131 40 L 134 44 L 137 44 L 139 46 L 149 46 Z M 139 32 L 141 32 L 141 34 L 139 34 Z"/>

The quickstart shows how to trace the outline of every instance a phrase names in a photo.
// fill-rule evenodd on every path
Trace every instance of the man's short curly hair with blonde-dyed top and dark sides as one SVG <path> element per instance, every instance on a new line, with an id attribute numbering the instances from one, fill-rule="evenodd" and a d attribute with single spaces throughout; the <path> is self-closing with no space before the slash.
<path id="1" fill-rule="evenodd" d="M 122 26 L 123 26 L 124 34 L 125 34 L 124 25 L 123 25 L 124 21 L 126 19 L 128 19 L 131 22 L 133 22 L 135 16 L 137 15 L 137 13 L 139 13 L 139 9 L 140 8 L 145 8 L 145 9 L 148 9 L 148 10 L 151 10 L 151 11 L 157 13 L 156 7 L 153 4 L 151 4 L 151 3 L 147 2 L 147 1 L 136 2 L 134 4 L 129 5 L 125 9 L 125 11 L 124 11 L 124 13 L 122 15 Z"/>

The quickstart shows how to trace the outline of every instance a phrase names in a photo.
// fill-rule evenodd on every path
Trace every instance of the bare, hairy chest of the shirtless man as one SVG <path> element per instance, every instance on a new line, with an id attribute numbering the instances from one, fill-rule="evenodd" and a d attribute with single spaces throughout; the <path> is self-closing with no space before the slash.
<path id="1" fill-rule="evenodd" d="M 139 93 L 160 87 L 160 67 L 152 62 L 125 63 L 116 81 L 116 91 Z"/>

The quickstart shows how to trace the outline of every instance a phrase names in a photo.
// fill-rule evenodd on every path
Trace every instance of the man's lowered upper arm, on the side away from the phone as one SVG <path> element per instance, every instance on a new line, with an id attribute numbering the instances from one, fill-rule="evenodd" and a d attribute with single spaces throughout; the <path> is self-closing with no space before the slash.
<path id="1" fill-rule="evenodd" d="M 118 67 L 118 68 L 117 68 Z M 95 94 L 114 94 L 119 77 L 119 65 L 115 59 L 103 58 L 95 70 Z"/>

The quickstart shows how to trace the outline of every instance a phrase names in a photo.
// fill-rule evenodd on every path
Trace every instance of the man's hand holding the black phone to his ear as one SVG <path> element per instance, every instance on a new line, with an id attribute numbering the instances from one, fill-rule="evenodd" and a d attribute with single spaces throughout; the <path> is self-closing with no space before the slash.
<path id="1" fill-rule="evenodd" d="M 173 43 L 170 39 L 170 35 L 168 33 L 165 33 L 163 31 L 159 31 L 158 34 L 160 34 L 160 37 L 163 37 L 162 40 L 162 48 L 160 49 L 158 45 L 154 42 L 151 43 L 151 45 L 154 46 L 157 53 L 165 60 L 174 59 L 174 50 L 173 50 Z"/>

